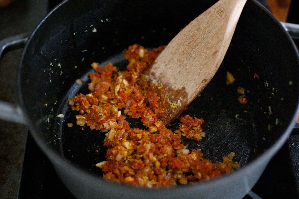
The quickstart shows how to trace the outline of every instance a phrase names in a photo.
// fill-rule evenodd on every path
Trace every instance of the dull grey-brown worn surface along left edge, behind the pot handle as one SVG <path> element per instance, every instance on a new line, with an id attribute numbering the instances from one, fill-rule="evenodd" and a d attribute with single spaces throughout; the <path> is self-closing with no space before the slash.
<path id="1" fill-rule="evenodd" d="M 31 32 L 46 15 L 47 0 L 16 0 L 0 8 L 0 40 Z M 4 55 L 0 61 L 0 100 L 17 103 L 16 74 L 23 49 Z M 28 127 L 0 120 L 0 198 L 17 198 Z"/>

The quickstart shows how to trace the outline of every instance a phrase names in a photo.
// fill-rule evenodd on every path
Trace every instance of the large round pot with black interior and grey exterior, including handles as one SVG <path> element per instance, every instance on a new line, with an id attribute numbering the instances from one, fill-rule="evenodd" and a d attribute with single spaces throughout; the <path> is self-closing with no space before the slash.
<path id="1" fill-rule="evenodd" d="M 242 198 L 288 138 L 298 112 L 298 50 L 283 26 L 256 1 L 245 5 L 218 72 L 182 113 L 205 119 L 206 137 L 183 140 L 188 148 L 202 149 L 212 161 L 235 152 L 235 161 L 242 166 L 238 171 L 168 189 L 110 183 L 94 166 L 104 160 L 105 136 L 88 127 L 66 126 L 75 123 L 76 115 L 67 101 L 78 92 L 88 92 L 92 62 L 111 61 L 121 68 L 126 65 L 121 53 L 128 45 L 167 44 L 215 2 L 63 1 L 28 41 L 22 35 L 0 43 L 2 54 L 7 47 L 27 41 L 18 75 L 21 109 L 1 102 L 0 117 L 29 124 L 33 138 L 77 198 Z M 231 86 L 225 84 L 227 71 L 236 78 Z M 77 85 L 78 78 L 86 83 Z M 248 90 L 245 105 L 238 103 L 238 86 Z M 57 118 L 61 113 L 65 117 Z"/>

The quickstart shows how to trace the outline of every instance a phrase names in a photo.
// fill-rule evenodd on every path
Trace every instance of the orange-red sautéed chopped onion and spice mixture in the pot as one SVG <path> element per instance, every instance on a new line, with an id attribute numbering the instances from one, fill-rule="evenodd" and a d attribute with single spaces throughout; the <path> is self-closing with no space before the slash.
<path id="1" fill-rule="evenodd" d="M 205 136 L 202 118 L 189 115 L 181 117 L 181 125 L 175 132 L 167 129 L 164 110 L 180 106 L 166 97 L 165 88 L 158 79 L 143 75 L 164 47 L 148 52 L 134 44 L 125 52 L 129 61 L 126 71 L 117 71 L 111 63 L 100 68 L 91 66 L 89 94 L 71 98 L 68 104 L 77 115 L 77 125 L 87 124 L 91 129 L 106 133 L 104 146 L 108 148 L 106 161 L 97 163 L 104 178 L 145 187 L 174 186 L 196 181 L 208 181 L 228 174 L 240 167 L 233 162 L 234 153 L 223 158 L 222 163 L 204 159 L 200 149 L 187 149 L 181 144 L 181 136 L 201 140 Z M 126 116 L 141 118 L 148 130 L 132 129 Z"/>

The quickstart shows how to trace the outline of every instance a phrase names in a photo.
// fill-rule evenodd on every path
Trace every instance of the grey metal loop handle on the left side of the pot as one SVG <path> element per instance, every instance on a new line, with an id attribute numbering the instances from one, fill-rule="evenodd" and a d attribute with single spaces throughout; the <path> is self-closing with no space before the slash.
<path id="1" fill-rule="evenodd" d="M 30 33 L 22 33 L 0 41 L 0 61 L 6 53 L 25 46 Z M 27 124 L 26 118 L 19 104 L 0 101 L 0 119 L 20 124 Z"/>

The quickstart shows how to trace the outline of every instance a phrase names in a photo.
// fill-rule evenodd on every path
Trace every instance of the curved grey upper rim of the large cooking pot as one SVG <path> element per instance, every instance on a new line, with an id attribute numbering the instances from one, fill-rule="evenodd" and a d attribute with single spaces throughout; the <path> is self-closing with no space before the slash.
<path id="1" fill-rule="evenodd" d="M 24 48 L 24 51 L 22 53 L 22 57 L 21 57 L 21 60 L 20 60 L 20 63 L 19 63 L 18 77 L 17 77 L 17 81 L 18 81 L 17 82 L 17 87 L 18 87 L 19 104 L 20 104 L 20 106 L 22 108 L 22 111 L 25 115 L 25 118 L 28 122 L 28 125 L 29 125 L 29 128 L 30 128 L 30 133 L 33 136 L 36 143 L 38 144 L 39 148 L 42 149 L 42 151 L 47 155 L 47 157 L 51 160 L 52 163 L 55 163 L 55 164 L 58 164 L 58 165 L 62 166 L 64 169 L 67 169 L 68 172 L 71 172 L 72 175 L 78 176 L 78 177 L 84 179 L 84 181 L 89 182 L 90 184 L 91 183 L 92 184 L 97 183 L 97 184 L 99 184 L 99 186 L 105 187 L 106 192 L 115 191 L 117 189 L 120 189 L 121 187 L 127 189 L 127 191 L 135 192 L 136 194 L 138 194 L 138 192 L 139 193 L 143 192 L 143 193 L 148 193 L 148 194 L 153 194 L 153 192 L 155 192 L 155 194 L 157 194 L 157 195 L 160 195 L 160 194 L 161 195 L 164 195 L 164 194 L 169 195 L 170 193 L 171 193 L 171 195 L 174 195 L 174 194 L 178 194 L 183 189 L 185 191 L 192 192 L 192 191 L 194 191 L 194 189 L 196 189 L 196 187 L 200 187 L 201 189 L 207 189 L 210 186 L 219 186 L 222 183 L 228 183 L 228 182 L 234 181 L 237 178 L 241 178 L 242 176 L 246 176 L 247 174 L 254 171 L 255 168 L 257 168 L 259 166 L 264 165 L 266 167 L 266 164 L 268 164 L 270 159 L 278 152 L 278 150 L 282 147 L 282 145 L 285 143 L 285 141 L 287 140 L 287 138 L 291 134 L 292 129 L 295 126 L 295 123 L 296 123 L 296 116 L 299 113 L 299 104 L 297 104 L 295 115 L 293 115 L 292 120 L 290 121 L 287 129 L 283 132 L 283 134 L 280 136 L 280 138 L 278 138 L 277 141 L 274 142 L 272 144 L 272 146 L 266 152 L 259 155 L 257 158 L 255 158 L 250 163 L 246 164 L 245 166 L 243 166 L 239 170 L 234 171 L 229 175 L 223 175 L 220 178 L 216 178 L 216 179 L 213 179 L 211 181 L 198 183 L 196 185 L 176 186 L 176 187 L 171 187 L 171 188 L 166 188 L 166 189 L 148 189 L 148 188 L 142 188 L 142 187 L 133 187 L 133 186 L 125 185 L 125 184 L 112 183 L 112 182 L 104 180 L 103 178 L 100 178 L 99 176 L 96 176 L 96 175 L 92 174 L 91 172 L 88 172 L 86 169 L 78 168 L 73 163 L 69 163 L 65 158 L 63 158 L 61 156 L 61 154 L 59 154 L 51 146 L 49 146 L 46 143 L 45 139 L 43 139 L 41 136 L 39 136 L 36 133 L 39 130 L 38 130 L 38 128 L 36 128 L 36 125 L 33 123 L 33 121 L 29 119 L 29 114 L 27 112 L 27 109 L 26 109 L 25 103 L 24 103 L 24 96 L 22 95 L 22 92 L 21 92 L 22 91 L 22 85 L 21 85 L 21 81 L 20 81 L 21 75 L 22 75 L 22 73 L 21 73 L 22 63 L 23 63 L 28 45 L 29 45 L 30 41 L 32 40 L 32 38 L 34 37 L 35 32 L 39 29 L 41 24 L 43 24 L 44 21 L 47 20 L 47 18 L 53 12 L 55 12 L 55 10 L 57 10 L 60 6 L 64 5 L 68 1 L 70 1 L 70 0 L 64 0 L 60 4 L 58 4 L 54 9 L 52 9 L 45 16 L 45 18 L 42 19 L 42 21 L 37 25 L 37 27 L 31 33 L 31 35 L 28 39 L 28 42 L 26 43 L 26 46 Z M 292 40 L 290 35 L 285 31 L 285 29 L 282 27 L 282 25 L 279 23 L 279 21 L 270 13 L 269 10 L 267 10 L 265 7 L 263 7 L 263 5 L 261 5 L 259 2 L 257 2 L 256 0 L 251 0 L 251 1 L 253 1 L 255 4 L 257 4 L 258 7 L 260 7 L 260 9 L 264 10 L 264 12 L 269 14 L 271 16 L 271 18 L 274 21 L 277 22 L 279 28 L 281 30 L 283 30 L 284 35 L 288 38 L 290 44 L 292 45 L 292 48 L 295 50 L 295 53 L 297 55 L 297 59 L 299 60 L 298 49 L 297 49 L 294 41 Z M 248 187 L 248 192 L 250 191 L 250 189 L 251 188 Z"/>

